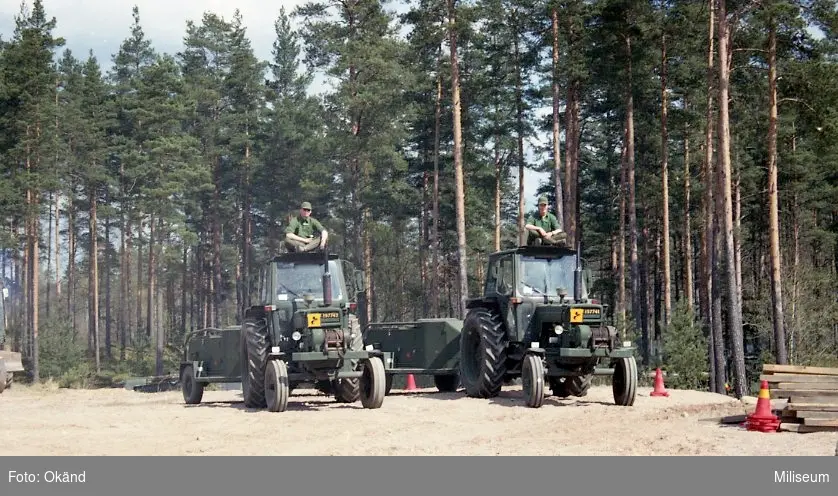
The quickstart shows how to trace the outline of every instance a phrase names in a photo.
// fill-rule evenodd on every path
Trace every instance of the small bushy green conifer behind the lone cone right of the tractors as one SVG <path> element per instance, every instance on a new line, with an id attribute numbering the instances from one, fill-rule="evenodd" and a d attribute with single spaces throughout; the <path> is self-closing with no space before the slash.
<path id="1" fill-rule="evenodd" d="M 683 301 L 673 308 L 663 335 L 663 363 L 670 387 L 707 388 L 707 342 L 695 315 Z"/>

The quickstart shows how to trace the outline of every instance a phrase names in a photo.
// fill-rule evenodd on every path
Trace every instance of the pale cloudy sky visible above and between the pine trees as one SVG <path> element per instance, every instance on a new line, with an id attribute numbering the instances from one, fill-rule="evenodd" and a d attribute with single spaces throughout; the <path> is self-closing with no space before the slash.
<path id="1" fill-rule="evenodd" d="M 0 0 L 0 35 L 4 40 L 14 32 L 14 17 L 20 12 L 22 1 L 31 8 L 32 0 Z M 256 56 L 269 60 L 275 38 L 274 21 L 280 8 L 290 13 L 302 3 L 304 0 L 43 0 L 47 16 L 56 19 L 53 34 L 66 40 L 64 48 L 82 59 L 93 50 L 103 71 L 110 68 L 112 55 L 130 35 L 134 5 L 139 8 L 140 24 L 154 49 L 170 54 L 183 48 L 187 20 L 200 23 L 206 11 L 232 19 L 238 9 Z M 390 10 L 396 8 L 395 3 L 388 6 Z M 314 91 L 319 92 L 316 88 Z M 548 179 L 548 174 L 530 170 L 524 173 L 528 210 L 535 208 L 539 183 Z M 517 184 L 517 172 L 513 172 L 512 180 Z"/>

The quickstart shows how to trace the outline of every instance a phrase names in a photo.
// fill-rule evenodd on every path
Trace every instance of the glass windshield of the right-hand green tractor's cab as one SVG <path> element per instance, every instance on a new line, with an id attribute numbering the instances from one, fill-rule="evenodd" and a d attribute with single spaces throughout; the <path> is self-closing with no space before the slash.
<path id="1" fill-rule="evenodd" d="M 573 270 L 576 258 L 521 257 L 521 277 L 518 291 L 524 296 L 556 296 L 561 288 L 573 296 Z M 582 297 L 587 296 L 585 279 L 582 278 Z"/>

